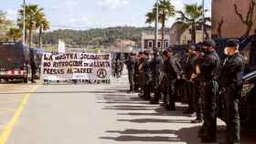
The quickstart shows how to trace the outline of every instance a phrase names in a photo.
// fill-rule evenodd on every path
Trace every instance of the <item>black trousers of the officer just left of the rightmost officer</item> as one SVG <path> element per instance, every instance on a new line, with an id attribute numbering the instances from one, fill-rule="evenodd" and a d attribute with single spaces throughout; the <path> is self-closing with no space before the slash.
<path id="1" fill-rule="evenodd" d="M 200 95 L 203 99 L 203 129 L 205 129 L 203 137 L 206 139 L 216 139 L 218 83 L 217 81 L 211 80 L 202 82 L 200 86 Z"/>

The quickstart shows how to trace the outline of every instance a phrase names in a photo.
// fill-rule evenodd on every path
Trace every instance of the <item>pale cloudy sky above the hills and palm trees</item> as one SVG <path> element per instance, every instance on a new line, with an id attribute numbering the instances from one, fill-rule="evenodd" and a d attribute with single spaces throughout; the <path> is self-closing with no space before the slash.
<path id="1" fill-rule="evenodd" d="M 27 4 L 37 4 L 44 8 L 54 29 L 90 29 L 109 26 L 150 26 L 145 24 L 145 14 L 149 12 L 155 0 L 26 0 Z M 171 0 L 176 10 L 182 10 L 184 4 L 201 4 L 202 0 Z M 17 10 L 23 0 L 0 0 L 0 10 L 7 17 L 16 20 Z M 210 0 L 206 7 L 210 8 Z M 175 18 L 170 18 L 171 26 Z"/>

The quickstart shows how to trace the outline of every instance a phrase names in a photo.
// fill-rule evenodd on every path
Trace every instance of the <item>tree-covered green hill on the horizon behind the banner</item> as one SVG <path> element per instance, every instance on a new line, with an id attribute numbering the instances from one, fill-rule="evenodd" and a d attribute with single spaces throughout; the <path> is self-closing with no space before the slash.
<path id="1" fill-rule="evenodd" d="M 67 45 L 74 46 L 112 46 L 118 39 L 133 40 L 139 43 L 141 40 L 142 31 L 144 30 L 154 30 L 154 28 L 118 26 L 96 28 L 84 31 L 59 29 L 44 33 L 43 43 L 56 45 L 58 44 L 59 39 L 64 40 Z"/>

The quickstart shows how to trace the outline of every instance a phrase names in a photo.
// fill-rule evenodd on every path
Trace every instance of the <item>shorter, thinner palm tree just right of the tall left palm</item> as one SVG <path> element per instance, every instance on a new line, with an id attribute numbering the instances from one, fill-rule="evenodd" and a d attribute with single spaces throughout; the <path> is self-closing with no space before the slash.
<path id="1" fill-rule="evenodd" d="M 39 28 L 39 47 L 42 47 L 42 34 L 43 31 L 49 29 L 49 22 L 45 15 L 38 15 L 37 17 L 37 28 Z"/>

